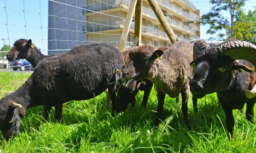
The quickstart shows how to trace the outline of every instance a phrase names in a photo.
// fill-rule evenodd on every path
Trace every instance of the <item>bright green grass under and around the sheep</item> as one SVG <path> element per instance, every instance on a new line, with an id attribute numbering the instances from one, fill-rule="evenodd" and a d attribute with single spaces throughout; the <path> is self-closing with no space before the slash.
<path id="1" fill-rule="evenodd" d="M 30 74 L 0 72 L 1 93 L 14 91 L 12 82 L 26 80 Z M 16 74 L 16 73 L 14 73 Z M 13 78 L 15 77 L 15 78 Z M 21 85 L 15 84 L 17 86 Z M 3 94 L 1 95 L 3 96 Z M 47 122 L 41 116 L 42 106 L 26 112 L 20 126 L 20 135 L 10 141 L 0 133 L 3 153 L 255 153 L 256 124 L 247 122 L 238 110 L 235 116 L 234 139 L 228 141 L 225 115 L 216 94 L 198 101 L 198 113 L 193 113 L 189 99 L 191 129 L 184 125 L 181 103 L 166 96 L 163 122 L 154 127 L 157 96 L 154 89 L 146 109 L 141 107 L 143 92 L 137 96 L 134 110 L 111 116 L 105 108 L 105 94 L 85 101 L 64 105 L 61 123 L 56 123 L 54 111 Z"/>

